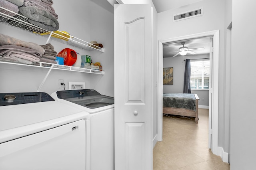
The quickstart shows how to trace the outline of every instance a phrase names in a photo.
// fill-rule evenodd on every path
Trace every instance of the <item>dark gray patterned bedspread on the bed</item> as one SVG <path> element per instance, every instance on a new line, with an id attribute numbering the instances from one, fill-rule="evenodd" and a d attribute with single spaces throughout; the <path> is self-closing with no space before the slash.
<path id="1" fill-rule="evenodd" d="M 188 93 L 164 93 L 163 107 L 175 107 L 196 111 L 196 97 Z"/>

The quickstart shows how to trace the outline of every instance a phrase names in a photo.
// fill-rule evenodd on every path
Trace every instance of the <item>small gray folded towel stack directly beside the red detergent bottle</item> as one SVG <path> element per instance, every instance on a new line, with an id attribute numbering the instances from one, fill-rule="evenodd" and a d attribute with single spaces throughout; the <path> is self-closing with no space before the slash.
<path id="1" fill-rule="evenodd" d="M 57 62 L 55 61 L 57 52 L 54 51 L 54 46 L 52 46 L 52 44 L 50 43 L 40 46 L 43 47 L 45 51 L 42 57 L 40 57 L 40 61 L 57 64 Z"/>

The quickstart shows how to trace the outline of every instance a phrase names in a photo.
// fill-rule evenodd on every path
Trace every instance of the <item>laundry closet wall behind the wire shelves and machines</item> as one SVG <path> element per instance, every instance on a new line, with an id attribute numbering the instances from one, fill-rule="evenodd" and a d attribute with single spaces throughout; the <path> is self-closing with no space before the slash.
<path id="1" fill-rule="evenodd" d="M 107 9 L 108 5 L 111 6 L 110 4 L 104 5 Z M 50 40 L 49 43 L 54 46 L 54 49 L 57 52 L 60 52 L 64 48 L 71 48 L 81 55 L 92 55 L 94 62 L 102 62 L 102 67 L 103 70 L 106 70 L 106 74 L 95 75 L 52 70 L 41 91 L 51 94 L 54 91 L 63 90 L 58 88 L 58 79 L 64 79 L 66 88 L 69 81 L 86 82 L 86 88 L 94 88 L 100 93 L 114 96 L 114 71 L 112 69 L 112 63 L 114 61 L 114 56 L 112 55 L 113 47 L 108 45 L 113 44 L 114 25 L 111 24 L 110 20 L 110 18 L 113 17 L 113 12 L 102 10 L 101 6 L 96 5 L 93 7 L 94 11 L 91 11 L 91 6 L 92 4 L 90 3 L 90 0 L 76 0 L 75 3 L 63 3 L 62 0 L 54 0 L 54 4 L 52 5 L 56 14 L 59 16 L 58 22 L 60 23 L 60 31 L 66 31 L 76 38 L 80 38 L 86 42 L 90 42 L 92 40 L 101 42 L 104 47 L 106 47 L 106 52 L 104 54 L 92 53 L 91 51 L 65 45 L 54 40 Z M 95 20 L 92 20 L 91 16 L 94 17 L 96 14 L 99 14 L 98 11 L 100 11 L 102 20 L 104 18 L 106 22 L 96 22 Z M 107 20 L 110 20 L 110 23 L 108 23 Z M 97 23 L 97 29 L 95 29 L 94 22 Z M 98 32 L 100 36 L 94 36 L 95 32 Z M 0 24 L 0 33 L 26 42 L 34 42 L 39 45 L 45 44 L 47 40 L 44 37 L 19 30 L 17 28 L 12 28 L 5 24 Z M 108 47 L 110 47 L 110 49 L 108 49 Z M 0 63 L 0 93 L 35 92 L 44 79 L 47 71 L 48 69 L 45 68 L 16 66 Z M 104 86 L 96 86 L 97 83 L 104 84 Z"/>

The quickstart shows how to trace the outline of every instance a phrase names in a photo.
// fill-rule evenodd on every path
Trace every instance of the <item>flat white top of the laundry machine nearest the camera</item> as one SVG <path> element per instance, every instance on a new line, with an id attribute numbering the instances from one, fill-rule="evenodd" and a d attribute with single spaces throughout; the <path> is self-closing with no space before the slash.
<path id="1" fill-rule="evenodd" d="M 81 119 L 89 113 L 54 100 L 0 106 L 0 143 Z"/>

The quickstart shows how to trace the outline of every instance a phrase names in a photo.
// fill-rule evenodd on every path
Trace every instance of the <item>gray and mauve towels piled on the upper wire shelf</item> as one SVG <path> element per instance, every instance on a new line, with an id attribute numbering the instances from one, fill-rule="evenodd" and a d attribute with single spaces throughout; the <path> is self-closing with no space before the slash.
<path id="1" fill-rule="evenodd" d="M 47 31 L 57 31 L 59 29 L 58 15 L 52 8 L 52 4 L 52 0 L 0 0 L 1 7 L 25 16 L 31 24 Z M 1 10 L 1 12 L 4 11 Z M 9 13 L 6 11 L 6 14 Z M 18 17 L 15 14 L 10 14 L 10 16 Z M 1 22 L 6 20 L 8 19 L 0 18 Z"/>

